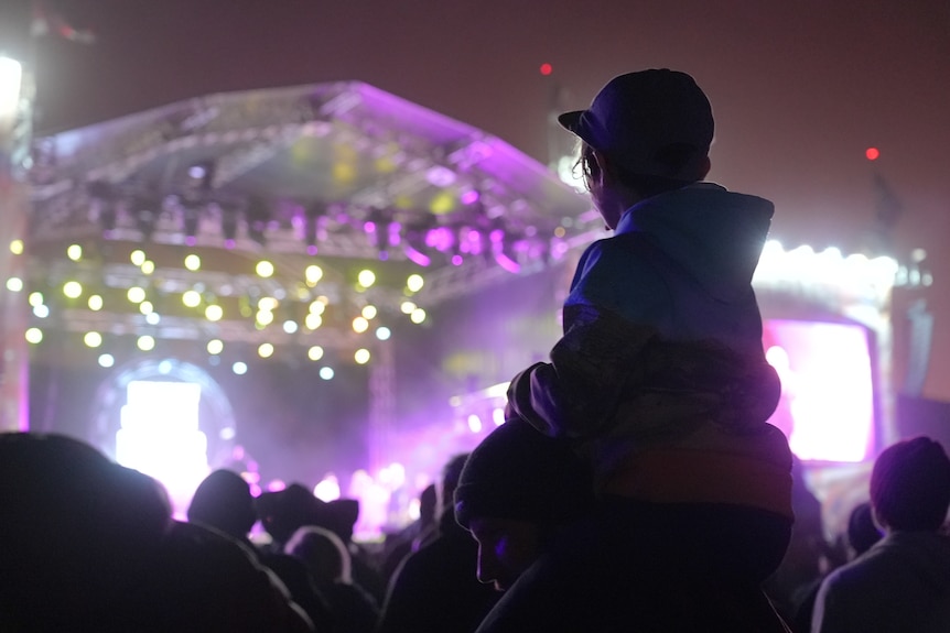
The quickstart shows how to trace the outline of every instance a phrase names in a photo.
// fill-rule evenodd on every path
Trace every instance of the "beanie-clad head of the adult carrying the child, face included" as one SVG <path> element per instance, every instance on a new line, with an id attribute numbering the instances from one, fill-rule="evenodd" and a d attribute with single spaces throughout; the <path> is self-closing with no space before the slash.
<path id="1" fill-rule="evenodd" d="M 455 519 L 478 543 L 478 579 L 503 591 L 592 504 L 586 462 L 519 418 L 482 440 L 455 489 Z"/>

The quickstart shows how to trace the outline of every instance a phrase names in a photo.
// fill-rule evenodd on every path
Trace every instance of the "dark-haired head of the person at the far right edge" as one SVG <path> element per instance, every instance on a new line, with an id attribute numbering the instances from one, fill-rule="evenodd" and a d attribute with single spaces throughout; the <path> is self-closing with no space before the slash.
<path id="1" fill-rule="evenodd" d="M 884 449 L 871 472 L 874 519 L 886 532 L 939 530 L 950 508 L 950 458 L 929 437 Z"/>

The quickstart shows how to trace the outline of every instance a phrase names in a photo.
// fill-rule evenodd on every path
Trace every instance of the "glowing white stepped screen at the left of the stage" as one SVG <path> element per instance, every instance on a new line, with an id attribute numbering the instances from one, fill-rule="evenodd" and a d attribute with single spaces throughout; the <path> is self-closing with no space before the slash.
<path id="1" fill-rule="evenodd" d="M 199 384 L 132 381 L 116 434 L 116 461 L 158 479 L 177 513 L 207 477 L 207 437 L 198 427 Z"/>

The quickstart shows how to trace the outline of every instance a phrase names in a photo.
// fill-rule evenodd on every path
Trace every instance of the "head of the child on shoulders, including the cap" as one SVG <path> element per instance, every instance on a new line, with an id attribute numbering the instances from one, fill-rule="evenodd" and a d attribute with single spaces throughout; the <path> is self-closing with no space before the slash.
<path id="1" fill-rule="evenodd" d="M 619 75 L 590 108 L 558 120 L 581 140 L 580 165 L 611 229 L 633 204 L 709 173 L 712 107 L 685 73 L 650 68 Z"/>

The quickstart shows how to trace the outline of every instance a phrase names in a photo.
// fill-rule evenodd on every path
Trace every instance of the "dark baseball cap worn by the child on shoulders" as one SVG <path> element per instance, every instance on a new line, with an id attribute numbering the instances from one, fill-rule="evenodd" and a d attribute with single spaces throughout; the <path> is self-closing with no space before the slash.
<path id="1" fill-rule="evenodd" d="M 705 156 L 713 139 L 712 107 L 695 79 L 669 68 L 611 79 L 586 110 L 558 122 L 630 173 L 668 176 L 661 160 L 670 145 L 691 145 Z"/>

